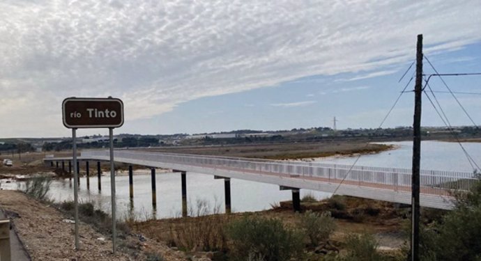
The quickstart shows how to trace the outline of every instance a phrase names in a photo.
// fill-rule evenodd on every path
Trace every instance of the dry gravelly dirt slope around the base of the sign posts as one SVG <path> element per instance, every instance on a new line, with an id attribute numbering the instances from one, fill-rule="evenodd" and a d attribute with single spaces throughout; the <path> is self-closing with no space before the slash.
<path id="1" fill-rule="evenodd" d="M 74 224 L 59 210 L 39 203 L 18 191 L 0 191 L 0 207 L 13 221 L 15 230 L 32 260 L 146 260 L 148 253 L 160 253 L 165 260 L 185 260 L 183 253 L 162 242 L 130 235 L 112 254 L 109 237 L 85 223 L 79 223 L 80 249 L 74 249 Z M 142 240 L 141 240 L 142 239 Z"/>

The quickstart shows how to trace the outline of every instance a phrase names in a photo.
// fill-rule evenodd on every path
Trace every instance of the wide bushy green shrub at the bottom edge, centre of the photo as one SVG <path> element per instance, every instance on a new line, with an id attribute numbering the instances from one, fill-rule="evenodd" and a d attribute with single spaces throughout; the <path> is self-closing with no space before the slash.
<path id="1" fill-rule="evenodd" d="M 232 221 L 227 226 L 231 239 L 229 255 L 233 260 L 284 261 L 299 258 L 303 253 L 304 235 L 284 228 L 277 219 L 255 216 Z"/>

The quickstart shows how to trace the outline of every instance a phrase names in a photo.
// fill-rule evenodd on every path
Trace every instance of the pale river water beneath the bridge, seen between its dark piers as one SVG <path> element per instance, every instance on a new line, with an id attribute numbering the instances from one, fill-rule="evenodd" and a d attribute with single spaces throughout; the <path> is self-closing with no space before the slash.
<path id="1" fill-rule="evenodd" d="M 116 176 L 116 209 L 119 219 L 152 219 L 178 217 L 182 214 L 180 173 L 157 173 L 157 205 L 152 205 L 151 175 L 134 172 L 134 198 L 129 196 L 128 175 Z M 98 191 L 97 177 L 90 177 L 90 189 L 86 177 L 80 178 L 79 201 L 91 202 L 96 207 L 111 212 L 109 173 L 102 175 L 102 191 Z M 13 188 L 13 189 L 16 189 Z M 326 198 L 330 193 L 301 190 L 301 196 L 312 194 Z M 73 200 L 73 180 L 54 180 L 49 196 L 56 201 Z M 213 175 L 187 173 L 187 197 L 190 214 L 205 212 L 223 213 L 224 180 L 214 180 Z M 282 200 L 291 200 L 291 191 L 280 191 L 279 186 L 245 180 L 231 180 L 231 205 L 233 212 L 249 212 L 269 209 Z M 198 209 L 198 208 L 201 209 Z"/>

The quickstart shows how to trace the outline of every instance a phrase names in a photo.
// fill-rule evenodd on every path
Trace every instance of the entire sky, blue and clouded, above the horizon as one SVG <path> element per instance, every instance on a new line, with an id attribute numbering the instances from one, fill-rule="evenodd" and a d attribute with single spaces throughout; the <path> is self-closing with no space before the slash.
<path id="1" fill-rule="evenodd" d="M 0 0 L 0 10 L 3 138 L 70 136 L 66 97 L 123 100 L 116 133 L 333 127 L 334 116 L 338 129 L 412 125 L 412 92 L 383 118 L 413 75 L 399 81 L 419 33 L 438 72 L 481 72 L 479 0 Z M 481 125 L 481 75 L 443 79 L 456 99 L 438 77 L 429 95 L 450 124 Z M 444 126 L 423 99 L 422 125 Z"/>

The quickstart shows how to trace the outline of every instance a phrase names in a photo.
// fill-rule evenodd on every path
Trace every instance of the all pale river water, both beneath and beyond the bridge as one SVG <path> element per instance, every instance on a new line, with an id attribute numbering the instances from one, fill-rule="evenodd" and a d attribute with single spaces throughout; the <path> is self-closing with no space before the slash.
<path id="1" fill-rule="evenodd" d="M 362 155 L 357 166 L 385 166 L 411 168 L 412 143 L 390 142 L 396 145 L 395 150 L 375 155 Z M 462 143 L 466 151 L 478 161 L 481 159 L 480 143 Z M 421 168 L 443 171 L 472 172 L 464 152 L 458 143 L 440 141 L 423 141 Z M 335 164 L 353 164 L 357 157 L 328 157 L 316 159 L 319 162 Z M 117 216 L 124 219 L 131 215 L 136 219 L 167 218 L 181 216 L 181 175 L 180 173 L 157 173 L 157 207 L 153 209 L 151 196 L 151 175 L 149 170 L 134 172 L 134 199 L 129 198 L 128 175 L 119 173 L 116 176 Z M 90 177 L 90 189 L 86 188 L 86 177 L 80 179 L 79 199 L 92 202 L 105 212 L 111 210 L 111 193 L 109 173 L 102 175 L 102 191 L 98 191 L 97 177 Z M 2 184 L 3 188 L 16 189 L 17 185 Z M 330 193 L 308 191 L 302 189 L 301 197 L 307 194 L 317 199 L 327 198 Z M 212 175 L 187 173 L 187 193 L 190 213 L 197 213 L 199 203 L 206 203 L 209 211 L 224 213 L 224 180 L 214 180 Z M 73 200 L 72 181 L 54 180 L 49 196 L 56 201 Z M 279 186 L 231 180 L 231 206 L 233 212 L 250 212 L 269 209 L 282 200 L 291 200 L 291 191 L 280 191 Z M 202 205 L 202 204 L 201 204 Z M 205 204 L 204 204 L 205 207 Z"/>

